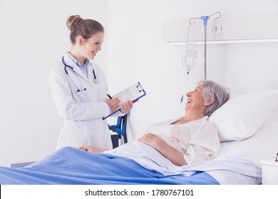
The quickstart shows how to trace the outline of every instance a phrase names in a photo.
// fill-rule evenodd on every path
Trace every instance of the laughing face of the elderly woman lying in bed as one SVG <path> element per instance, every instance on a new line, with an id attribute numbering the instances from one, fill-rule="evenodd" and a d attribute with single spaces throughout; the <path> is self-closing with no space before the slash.
<path id="1" fill-rule="evenodd" d="M 187 103 L 185 111 L 202 113 L 205 109 L 205 99 L 202 97 L 202 85 L 198 85 L 195 90 L 187 92 Z"/>

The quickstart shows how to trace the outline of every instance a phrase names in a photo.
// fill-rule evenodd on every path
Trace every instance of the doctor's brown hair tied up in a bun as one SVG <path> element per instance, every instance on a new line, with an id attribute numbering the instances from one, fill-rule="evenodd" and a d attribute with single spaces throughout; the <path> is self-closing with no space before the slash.
<path id="1" fill-rule="evenodd" d="M 66 26 L 71 31 L 71 43 L 76 43 L 76 38 L 82 36 L 84 39 L 91 38 L 94 33 L 104 32 L 104 28 L 98 21 L 83 19 L 79 15 L 69 16 Z"/>

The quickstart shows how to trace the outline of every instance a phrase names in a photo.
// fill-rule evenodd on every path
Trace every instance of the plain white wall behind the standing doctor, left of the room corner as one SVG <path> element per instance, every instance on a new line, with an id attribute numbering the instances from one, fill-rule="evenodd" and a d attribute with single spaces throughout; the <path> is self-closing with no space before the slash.
<path id="1" fill-rule="evenodd" d="M 63 121 L 48 88 L 51 67 L 70 50 L 68 16 L 108 28 L 108 0 L 1 0 L 0 165 L 37 161 L 56 150 Z M 107 43 L 96 63 L 107 72 Z"/>

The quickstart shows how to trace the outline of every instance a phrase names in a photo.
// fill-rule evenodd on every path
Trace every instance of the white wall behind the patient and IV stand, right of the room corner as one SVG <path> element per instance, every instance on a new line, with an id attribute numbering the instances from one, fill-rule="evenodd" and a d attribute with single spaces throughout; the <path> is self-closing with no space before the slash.
<path id="1" fill-rule="evenodd" d="M 276 0 L 110 1 L 110 90 L 117 92 L 120 88 L 140 81 L 147 92 L 130 114 L 130 139 L 143 134 L 149 124 L 182 116 L 184 104 L 179 103 L 180 96 L 194 88 L 197 80 L 204 77 L 204 48 L 203 45 L 198 45 L 197 67 L 192 70 L 185 83 L 185 68 L 181 65 L 185 45 L 163 43 L 164 21 L 200 17 L 216 11 L 220 11 L 223 17 L 278 14 L 277 8 Z M 267 81 L 269 87 L 278 87 L 271 85 L 271 78 L 278 72 L 275 67 L 277 48 L 278 43 L 208 45 L 207 79 L 229 86 L 232 92 L 257 89 L 257 83 L 254 82 L 258 81 Z M 257 75 L 253 76 L 254 74 Z M 235 81 L 237 77 L 238 82 Z"/>

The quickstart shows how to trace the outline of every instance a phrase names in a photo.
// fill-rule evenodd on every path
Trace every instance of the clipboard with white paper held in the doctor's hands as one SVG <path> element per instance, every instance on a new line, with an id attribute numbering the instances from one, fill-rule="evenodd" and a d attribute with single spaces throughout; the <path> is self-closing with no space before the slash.
<path id="1" fill-rule="evenodd" d="M 136 82 L 134 85 L 131 85 L 130 87 L 127 87 L 125 90 L 122 90 L 121 92 L 118 92 L 116 95 L 113 95 L 112 98 L 118 97 L 120 99 L 120 104 L 123 102 L 126 102 L 127 100 L 131 100 L 135 102 L 136 100 L 140 99 L 141 97 L 145 96 L 145 90 L 143 89 L 143 86 L 140 84 L 140 82 Z M 106 119 L 110 117 L 115 112 L 118 112 L 120 110 L 120 104 L 118 109 L 116 109 L 114 112 L 109 114 L 106 117 L 103 117 L 103 119 Z"/>

